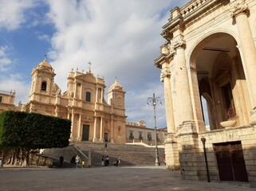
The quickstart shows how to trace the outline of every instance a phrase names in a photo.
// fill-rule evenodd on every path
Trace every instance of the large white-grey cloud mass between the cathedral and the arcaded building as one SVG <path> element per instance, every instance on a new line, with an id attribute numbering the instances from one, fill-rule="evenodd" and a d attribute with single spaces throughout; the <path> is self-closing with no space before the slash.
<path id="1" fill-rule="evenodd" d="M 49 57 L 57 76 L 55 82 L 66 88 L 71 68 L 88 71 L 91 61 L 94 75 L 105 77 L 107 88 L 115 77 L 126 90 L 128 121 L 144 119 L 153 127 L 148 96 L 163 84 L 154 60 L 160 56 L 162 26 L 167 23 L 170 0 L 49 0 L 49 21 L 56 28 Z M 61 2 L 61 3 L 60 3 Z M 179 3 L 187 0 L 179 1 Z M 166 14 L 163 12 L 166 11 Z M 138 95 L 139 94 L 139 95 Z M 165 126 L 164 107 L 159 111 L 160 127 Z M 153 111 L 152 111 L 153 114 Z M 147 119 L 146 119 L 147 118 Z"/>

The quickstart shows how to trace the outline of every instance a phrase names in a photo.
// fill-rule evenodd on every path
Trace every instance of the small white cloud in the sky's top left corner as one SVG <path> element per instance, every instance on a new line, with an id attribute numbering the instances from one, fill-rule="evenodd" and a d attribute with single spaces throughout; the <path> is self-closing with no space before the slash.
<path id="1" fill-rule="evenodd" d="M 17 29 L 26 21 L 26 10 L 33 7 L 33 0 L 0 0 L 0 29 Z"/>

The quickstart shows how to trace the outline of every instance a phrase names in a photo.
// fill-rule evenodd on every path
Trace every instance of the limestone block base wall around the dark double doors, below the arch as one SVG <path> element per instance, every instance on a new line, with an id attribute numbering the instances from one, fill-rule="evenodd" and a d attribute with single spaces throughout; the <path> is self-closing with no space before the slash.
<path id="1" fill-rule="evenodd" d="M 185 179 L 206 180 L 207 168 L 203 153 L 206 138 L 207 164 L 211 181 L 219 181 L 219 170 L 213 144 L 241 141 L 243 157 L 246 163 L 248 181 L 256 182 L 256 130 L 255 127 L 230 127 L 223 130 L 208 131 L 201 134 L 183 134 L 179 136 L 179 163 Z M 166 153 L 168 147 L 166 147 Z"/>

